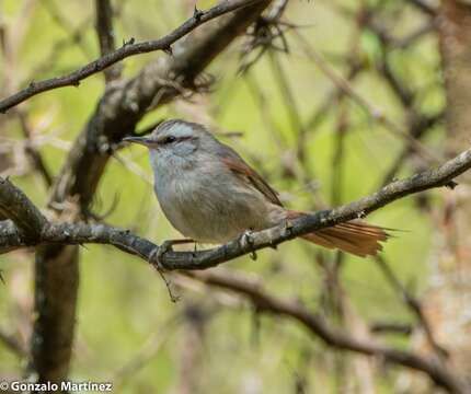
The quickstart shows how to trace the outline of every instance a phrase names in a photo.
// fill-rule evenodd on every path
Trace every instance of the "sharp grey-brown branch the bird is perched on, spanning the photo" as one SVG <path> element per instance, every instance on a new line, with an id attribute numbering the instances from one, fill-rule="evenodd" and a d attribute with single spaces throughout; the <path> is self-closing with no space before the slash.
<path id="1" fill-rule="evenodd" d="M 455 187 L 452 181 L 471 167 L 471 149 L 449 160 L 441 166 L 415 174 L 405 179 L 395 181 L 377 193 L 357 201 L 331 210 L 307 215 L 291 222 L 283 223 L 272 229 L 255 232 L 250 242 L 234 240 L 222 246 L 200 252 L 169 252 L 161 258 L 161 266 L 168 270 L 204 269 L 214 267 L 236 257 L 253 253 L 264 247 L 274 247 L 294 237 L 312 231 L 332 227 L 366 215 L 405 196 L 427 190 L 434 187 Z M 22 225 L 27 219 L 38 223 L 42 231 L 36 237 L 25 237 L 15 225 L 0 225 L 0 253 L 9 252 L 22 246 L 37 246 L 44 244 L 110 244 L 127 253 L 150 260 L 159 246 L 152 242 L 131 234 L 129 231 L 107 227 L 104 224 L 85 223 L 50 223 L 44 222 L 41 212 L 24 194 L 15 188 L 8 179 L 0 182 L 0 207 L 9 205 L 22 207 L 14 209 L 9 216 L 15 223 Z M 21 202 L 21 204 L 20 204 Z M 7 212 L 8 215 L 8 212 Z M 44 218 L 44 217 L 43 217 Z M 36 232 L 37 234 L 37 232 Z"/>

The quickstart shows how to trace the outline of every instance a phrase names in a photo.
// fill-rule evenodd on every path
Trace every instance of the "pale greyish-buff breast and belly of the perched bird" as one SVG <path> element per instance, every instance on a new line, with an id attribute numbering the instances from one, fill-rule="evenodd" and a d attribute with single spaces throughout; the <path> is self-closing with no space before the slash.
<path id="1" fill-rule="evenodd" d="M 272 227 L 272 210 L 283 210 L 227 174 L 187 172 L 156 179 L 156 194 L 172 225 L 203 243 L 225 243 L 249 229 Z"/>

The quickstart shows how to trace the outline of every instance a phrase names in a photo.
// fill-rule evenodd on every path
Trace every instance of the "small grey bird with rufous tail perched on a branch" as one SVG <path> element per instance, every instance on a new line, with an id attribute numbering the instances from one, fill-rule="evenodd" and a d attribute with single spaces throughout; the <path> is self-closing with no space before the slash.
<path id="1" fill-rule="evenodd" d="M 148 148 L 160 207 L 188 241 L 223 244 L 308 215 L 287 209 L 278 193 L 204 125 L 170 119 L 149 136 L 124 141 Z M 360 219 L 302 235 L 359 257 L 377 255 L 388 237 L 384 228 Z M 185 240 L 175 240 L 180 242 Z"/>

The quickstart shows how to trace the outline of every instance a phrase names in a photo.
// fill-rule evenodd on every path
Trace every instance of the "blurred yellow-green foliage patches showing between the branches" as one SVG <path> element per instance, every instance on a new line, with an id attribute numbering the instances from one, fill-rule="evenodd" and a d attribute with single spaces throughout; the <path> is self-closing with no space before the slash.
<path id="1" fill-rule="evenodd" d="M 368 3 L 378 4 L 380 1 Z M 19 1 L 4 1 L 3 12 L 9 30 L 16 23 L 25 31 L 19 43 L 15 59 L 14 90 L 28 83 L 28 77 L 38 65 L 43 69 L 34 73 L 34 79 L 49 78 L 74 69 L 99 56 L 92 18 L 92 2 L 57 1 L 34 2 L 25 15 Z M 185 1 L 116 1 L 120 9 L 116 22 L 116 42 L 135 37 L 136 40 L 156 38 L 191 14 Z M 198 2 L 199 8 L 209 7 L 214 1 Z M 355 12 L 358 2 L 338 1 Z M 389 1 L 388 4 L 392 3 Z M 54 7 L 50 4 L 55 4 Z M 60 7 L 59 7 L 60 5 Z M 50 16 L 50 8 L 67 21 L 66 27 Z M 142 12 L 142 10 L 146 10 Z M 387 11 L 384 11 L 387 14 Z M 393 33 L 405 36 L 422 16 L 411 9 L 403 11 L 404 20 L 393 21 Z M 330 1 L 289 3 L 287 20 L 310 24 L 300 30 L 310 45 L 325 55 L 336 72 L 347 69 L 346 59 L 351 50 L 351 38 L 355 33 L 352 18 L 345 16 L 331 7 Z M 78 32 L 81 44 L 69 44 L 60 56 L 51 57 L 60 40 L 70 40 L 70 32 Z M 288 33 L 290 54 L 275 53 L 285 70 L 296 103 L 289 103 L 280 92 L 273 67 L 264 56 L 242 77 L 237 49 L 232 46 L 210 67 L 217 77 L 214 93 L 198 100 L 197 104 L 177 102 L 152 112 L 142 120 L 142 128 L 162 116 L 185 118 L 208 118 L 222 130 L 241 131 L 240 138 L 227 138 L 226 142 L 238 149 L 244 158 L 257 167 L 269 182 L 284 192 L 287 205 L 296 209 L 331 204 L 331 179 L 333 157 L 335 155 L 336 132 L 341 108 L 346 108 L 348 117 L 344 140 L 343 182 L 341 200 L 354 200 L 376 190 L 383 173 L 394 162 L 401 151 L 402 140 L 391 136 L 370 114 L 358 107 L 349 99 L 343 105 L 331 106 L 325 118 L 314 128 L 307 130 L 306 162 L 296 158 L 299 130 L 292 126 L 288 105 L 296 105 L 303 123 L 309 119 L 333 90 L 332 82 L 310 61 L 294 34 Z M 353 86 L 375 107 L 395 123 L 404 121 L 404 112 L 397 99 L 375 71 L 375 65 L 384 55 L 378 36 L 370 30 L 359 33 L 359 50 L 368 63 Z M 133 57 L 124 62 L 124 74 L 130 77 L 149 60 L 164 54 Z M 335 60 L 341 59 L 341 60 Z M 436 43 L 425 38 L 406 50 L 395 49 L 388 54 L 393 70 L 417 94 L 416 106 L 434 114 L 444 106 L 444 94 L 437 83 L 438 54 Z M 5 72 L 4 66 L 2 72 Z M 18 74 L 18 76 L 16 76 Z M 47 166 L 57 175 L 67 155 L 69 143 L 74 140 L 96 102 L 103 94 L 103 76 L 87 79 L 80 88 L 65 88 L 38 95 L 27 102 L 25 108 L 31 123 L 41 137 L 49 138 L 41 146 Z M 263 95 L 261 104 L 253 92 Z M 5 92 L 3 92 L 4 95 Z M 199 101 L 204 102 L 203 104 Z M 273 124 L 268 124 L 272 119 Z M 5 120 L 2 137 L 16 141 L 22 139 L 18 121 Z M 440 142 L 440 128 L 430 140 Z M 166 222 L 152 195 L 152 186 L 147 152 L 140 147 L 125 148 L 118 153 L 126 162 L 113 160 L 100 184 L 94 209 L 106 211 L 117 204 L 106 221 L 117 227 L 128 228 L 142 236 L 160 243 L 179 236 Z M 128 163 L 134 163 L 133 166 Z M 289 165 L 295 175 L 287 175 Z M 134 167 L 136 166 L 136 169 Z M 398 175 L 407 175 L 415 169 L 404 166 Z M 145 176 L 140 176 L 142 173 Z M 25 190 L 34 202 L 45 207 L 47 193 L 37 174 L 25 172 L 13 176 L 16 185 Z M 310 183 L 315 181 L 312 189 Z M 372 215 L 369 221 L 406 232 L 386 245 L 384 256 L 403 282 L 413 281 L 421 291 L 426 277 L 426 262 L 430 253 L 430 225 L 426 215 L 417 209 L 413 198 L 388 206 Z M 395 234 L 395 233 L 394 233 Z M 0 285 L 0 328 L 27 334 L 27 313 L 33 299 L 33 255 L 18 252 L 1 256 L 1 269 L 7 285 Z M 294 241 L 259 253 L 253 262 L 248 257 L 227 264 L 227 267 L 263 278 L 264 287 L 282 298 L 299 298 L 312 311 L 322 311 L 325 297 L 322 270 L 315 260 L 319 248 Z M 322 252 L 328 265 L 333 265 L 335 253 Z M 335 387 L 335 354 L 329 355 L 323 344 L 310 337 L 303 328 L 292 322 L 273 316 L 259 316 L 250 308 L 241 304 L 233 296 L 208 291 L 193 283 L 196 291 L 186 287 L 175 290 L 183 301 L 170 302 L 160 277 L 141 260 L 115 248 L 93 245 L 81 248 L 81 288 L 72 380 L 106 381 L 112 379 L 123 366 L 134 360 L 149 338 L 161 333 L 161 346 L 141 369 L 131 373 L 119 386 L 119 392 L 176 392 L 182 380 L 182 364 L 188 337 L 197 329 L 185 318 L 188 304 L 197 304 L 208 317 L 204 318 L 204 329 L 199 336 L 203 350 L 198 363 L 193 368 L 199 374 L 198 393 L 287 393 L 292 392 L 299 374 L 310 382 L 308 392 L 322 391 L 325 384 Z M 30 262 L 30 263 L 27 263 Z M 179 279 L 172 279 L 175 283 Z M 342 283 L 355 311 L 366 322 L 390 320 L 410 322 L 411 314 L 404 309 L 398 294 L 391 290 L 374 259 L 358 259 L 345 256 Z M 180 316 L 174 328 L 165 326 Z M 342 325 L 342 323 L 340 323 Z M 173 327 L 173 325 L 172 325 Z M 348 329 L 348 327 L 344 327 Z M 193 333 L 194 334 L 194 333 Z M 198 338 L 198 336 L 196 336 Z M 24 338 L 23 338 L 24 339 Z M 406 340 L 405 340 L 406 341 Z M 391 340 L 392 344 L 397 341 Z M 402 344 L 402 343 L 401 343 Z M 0 378 L 21 375 L 19 360 L 0 344 Z M 388 376 L 378 376 L 382 393 L 392 393 Z"/>

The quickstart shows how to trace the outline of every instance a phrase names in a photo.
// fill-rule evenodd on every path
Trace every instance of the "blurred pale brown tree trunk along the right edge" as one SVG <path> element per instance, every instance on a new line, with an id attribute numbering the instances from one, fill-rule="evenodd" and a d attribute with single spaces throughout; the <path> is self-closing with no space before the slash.
<path id="1" fill-rule="evenodd" d="M 468 4 L 467 4 L 468 3 Z M 446 149 L 452 154 L 470 143 L 471 136 L 471 5 L 469 1 L 443 0 L 438 13 L 439 50 L 446 89 Z M 458 181 L 459 182 L 459 181 Z M 471 288 L 470 188 L 444 192 L 444 207 L 434 216 L 433 283 L 424 310 L 437 341 L 450 352 L 452 368 L 471 374 L 469 305 Z M 468 311 L 468 312 L 467 312 Z M 468 315 L 467 315 L 468 313 Z"/>

